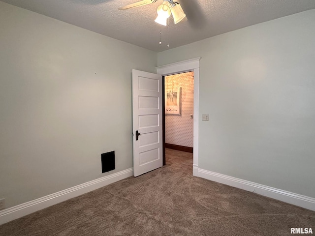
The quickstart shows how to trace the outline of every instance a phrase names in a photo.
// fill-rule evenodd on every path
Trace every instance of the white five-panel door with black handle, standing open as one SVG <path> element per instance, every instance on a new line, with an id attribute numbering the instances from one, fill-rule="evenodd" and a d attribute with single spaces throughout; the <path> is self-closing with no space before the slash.
<path id="1" fill-rule="evenodd" d="M 162 76 L 132 70 L 133 176 L 163 165 Z"/>

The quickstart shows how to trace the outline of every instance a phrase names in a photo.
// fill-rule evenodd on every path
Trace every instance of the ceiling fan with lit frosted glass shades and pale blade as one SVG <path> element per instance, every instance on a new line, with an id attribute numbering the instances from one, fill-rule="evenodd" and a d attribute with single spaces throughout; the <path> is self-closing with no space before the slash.
<path id="1" fill-rule="evenodd" d="M 147 4 L 151 4 L 156 2 L 157 0 L 142 0 L 137 1 L 135 3 L 128 4 L 126 6 L 119 7 L 119 10 L 126 10 L 134 7 L 139 7 Z M 163 26 L 166 26 L 167 18 L 170 17 L 170 15 L 173 15 L 174 23 L 177 24 L 180 21 L 182 21 L 186 15 L 183 11 L 183 8 L 181 5 L 173 0 L 164 0 L 162 4 L 158 6 L 158 17 L 155 20 L 158 24 L 161 24 Z"/>

